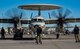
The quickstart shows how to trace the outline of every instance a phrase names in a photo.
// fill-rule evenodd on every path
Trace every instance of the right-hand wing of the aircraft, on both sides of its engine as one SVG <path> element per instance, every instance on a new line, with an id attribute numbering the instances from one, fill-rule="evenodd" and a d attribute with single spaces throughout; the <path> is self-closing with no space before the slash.
<path id="1" fill-rule="evenodd" d="M 80 22 L 80 18 L 66 18 L 65 22 L 67 22 L 67 23 Z M 46 24 L 56 24 L 57 23 L 57 19 L 45 19 L 45 23 Z"/>

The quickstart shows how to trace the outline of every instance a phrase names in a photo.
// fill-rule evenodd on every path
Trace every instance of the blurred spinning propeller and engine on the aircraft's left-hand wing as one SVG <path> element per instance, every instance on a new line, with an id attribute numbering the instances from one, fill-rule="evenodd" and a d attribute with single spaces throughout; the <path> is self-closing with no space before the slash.
<path id="1" fill-rule="evenodd" d="M 10 10 L 7 10 L 5 13 L 6 16 L 13 20 L 14 28 L 17 28 L 18 23 L 21 23 L 20 19 L 22 18 L 23 14 L 24 12 L 18 8 L 12 8 Z"/>

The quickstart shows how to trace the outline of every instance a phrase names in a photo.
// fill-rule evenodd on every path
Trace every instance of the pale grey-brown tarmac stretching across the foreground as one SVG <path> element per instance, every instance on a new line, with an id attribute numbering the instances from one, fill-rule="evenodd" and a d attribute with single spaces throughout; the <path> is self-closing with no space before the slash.
<path id="1" fill-rule="evenodd" d="M 47 39 L 50 37 L 52 39 Z M 80 42 L 76 43 L 73 35 L 62 35 L 59 39 L 55 39 L 55 35 L 50 35 L 46 40 L 43 38 L 42 44 L 36 44 L 35 40 L 3 39 L 0 40 L 0 49 L 80 49 Z"/>

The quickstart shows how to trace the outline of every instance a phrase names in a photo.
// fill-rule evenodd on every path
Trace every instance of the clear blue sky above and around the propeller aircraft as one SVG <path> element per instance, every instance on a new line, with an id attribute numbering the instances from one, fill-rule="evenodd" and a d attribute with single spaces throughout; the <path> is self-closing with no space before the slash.
<path id="1" fill-rule="evenodd" d="M 69 9 L 72 13 L 70 17 L 72 18 L 80 18 L 80 0 L 0 0 L 0 18 L 7 18 L 8 16 L 5 15 L 6 11 L 12 8 L 17 8 L 20 5 L 27 5 L 27 4 L 56 4 L 64 9 Z M 26 16 L 23 18 L 29 18 L 30 13 L 35 11 L 26 11 Z M 48 11 L 49 12 L 49 11 Z M 44 18 L 48 18 L 47 11 L 44 11 L 45 14 L 42 14 Z M 52 18 L 54 18 L 52 16 Z M 76 23 L 75 23 L 76 24 Z M 78 23 L 77 25 L 79 25 Z"/>

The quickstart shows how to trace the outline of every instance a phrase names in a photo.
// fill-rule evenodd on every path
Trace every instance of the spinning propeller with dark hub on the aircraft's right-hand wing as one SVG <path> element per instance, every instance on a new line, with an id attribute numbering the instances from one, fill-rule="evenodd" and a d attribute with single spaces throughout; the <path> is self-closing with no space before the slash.
<path id="1" fill-rule="evenodd" d="M 61 30 L 63 30 L 64 24 L 67 24 L 67 22 L 65 22 L 65 19 L 69 16 L 70 13 L 71 11 L 69 9 L 63 10 L 63 8 L 58 9 L 57 13 L 52 13 L 52 16 L 55 16 L 57 18 L 57 27 L 59 27 Z"/>

